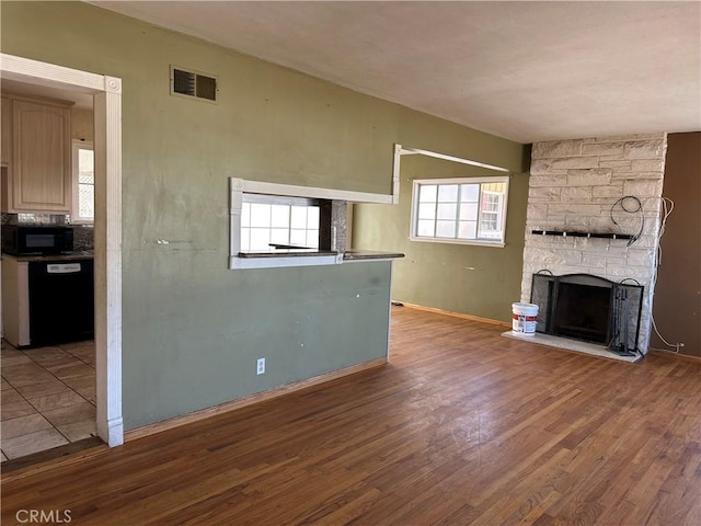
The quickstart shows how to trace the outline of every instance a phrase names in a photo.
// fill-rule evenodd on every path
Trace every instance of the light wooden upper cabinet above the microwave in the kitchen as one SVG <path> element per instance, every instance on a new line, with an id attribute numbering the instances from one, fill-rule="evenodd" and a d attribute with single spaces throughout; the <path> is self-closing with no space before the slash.
<path id="1" fill-rule="evenodd" d="M 71 209 L 70 107 L 12 100 L 11 208 Z"/>

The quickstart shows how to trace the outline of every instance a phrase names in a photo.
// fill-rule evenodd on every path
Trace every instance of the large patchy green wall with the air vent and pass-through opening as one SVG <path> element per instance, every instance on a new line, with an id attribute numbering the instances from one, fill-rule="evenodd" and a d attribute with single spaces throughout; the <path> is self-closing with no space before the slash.
<path id="1" fill-rule="evenodd" d="M 93 5 L 0 9 L 3 53 L 123 79 L 127 430 L 384 355 L 390 263 L 227 270 L 228 178 L 389 194 L 394 142 L 520 160 L 520 145 Z M 218 76 L 219 103 L 170 96 L 171 64 Z"/>

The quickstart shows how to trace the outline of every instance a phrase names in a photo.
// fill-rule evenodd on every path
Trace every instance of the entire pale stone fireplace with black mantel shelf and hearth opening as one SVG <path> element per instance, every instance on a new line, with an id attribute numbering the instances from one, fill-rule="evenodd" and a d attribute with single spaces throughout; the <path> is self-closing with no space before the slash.
<path id="1" fill-rule="evenodd" d="M 622 338 L 629 338 L 628 347 L 647 352 L 666 149 L 666 134 L 533 145 L 521 301 L 531 302 L 533 275 L 539 273 L 589 275 L 595 276 L 591 282 L 602 278 L 611 287 L 622 282 L 642 296 L 634 311 L 630 304 L 635 298 L 629 301 L 628 291 L 622 301 L 623 293 L 610 287 L 584 295 L 582 287 L 591 283 L 560 284 L 564 313 L 549 321 L 556 328 L 551 334 L 608 345 L 611 323 L 618 323 L 617 334 L 627 334 Z M 621 309 L 616 320 L 611 306 Z M 631 341 L 635 334 L 637 341 Z"/>

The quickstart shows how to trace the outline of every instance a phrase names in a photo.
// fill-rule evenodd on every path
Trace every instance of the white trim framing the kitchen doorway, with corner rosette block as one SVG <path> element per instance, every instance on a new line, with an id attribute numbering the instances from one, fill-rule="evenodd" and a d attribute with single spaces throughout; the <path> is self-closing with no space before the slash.
<path id="1" fill-rule="evenodd" d="M 122 420 L 122 79 L 0 53 L 3 79 L 89 93 L 95 125 L 97 434 L 124 443 Z"/>

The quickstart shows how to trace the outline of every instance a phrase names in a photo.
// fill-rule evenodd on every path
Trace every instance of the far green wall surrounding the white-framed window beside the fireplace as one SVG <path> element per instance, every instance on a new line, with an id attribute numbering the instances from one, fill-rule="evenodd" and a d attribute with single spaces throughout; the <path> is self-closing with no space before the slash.
<path id="1" fill-rule="evenodd" d="M 499 165 L 518 170 L 517 151 Z M 484 161 L 476 152 L 471 159 Z M 489 171 L 423 156 L 403 156 L 400 204 L 356 205 L 353 247 L 391 250 L 406 256 L 394 263 L 392 299 L 509 321 L 512 302 L 520 300 L 528 174 L 509 176 L 506 247 L 410 241 L 412 181 L 495 176 Z"/>

